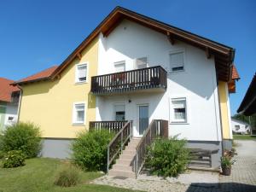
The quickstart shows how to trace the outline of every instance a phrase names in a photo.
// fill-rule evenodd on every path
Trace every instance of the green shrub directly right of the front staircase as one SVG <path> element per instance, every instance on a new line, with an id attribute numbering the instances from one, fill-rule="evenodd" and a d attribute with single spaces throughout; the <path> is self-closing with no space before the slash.
<path id="1" fill-rule="evenodd" d="M 148 148 L 145 166 L 149 172 L 163 177 L 177 177 L 189 163 L 189 149 L 185 140 L 158 139 Z"/>

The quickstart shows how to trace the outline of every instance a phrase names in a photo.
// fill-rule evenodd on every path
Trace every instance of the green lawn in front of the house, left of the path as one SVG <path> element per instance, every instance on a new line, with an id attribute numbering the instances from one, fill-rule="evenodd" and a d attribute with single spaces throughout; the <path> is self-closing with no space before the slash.
<path id="1" fill-rule="evenodd" d="M 41 191 L 131 191 L 109 186 L 90 184 L 90 180 L 102 176 L 99 172 L 82 172 L 82 182 L 70 188 L 61 188 L 54 185 L 56 173 L 65 166 L 65 161 L 36 158 L 26 160 L 26 166 L 17 168 L 0 167 L 0 192 L 41 192 Z M 1 162 L 0 162 L 1 164 Z"/>

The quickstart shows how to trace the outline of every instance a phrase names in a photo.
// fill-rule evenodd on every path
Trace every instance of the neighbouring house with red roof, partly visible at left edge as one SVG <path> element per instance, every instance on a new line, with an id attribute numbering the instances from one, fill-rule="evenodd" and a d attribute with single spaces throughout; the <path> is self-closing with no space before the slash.
<path id="1" fill-rule="evenodd" d="M 0 132 L 17 122 L 20 89 L 12 83 L 13 80 L 0 78 Z"/>

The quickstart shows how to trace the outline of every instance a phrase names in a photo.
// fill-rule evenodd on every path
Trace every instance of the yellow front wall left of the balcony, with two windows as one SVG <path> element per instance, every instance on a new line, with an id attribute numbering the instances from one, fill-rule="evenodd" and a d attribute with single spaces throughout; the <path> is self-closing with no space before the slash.
<path id="1" fill-rule="evenodd" d="M 90 77 L 97 73 L 98 38 L 61 73 L 60 79 L 22 85 L 20 121 L 39 125 L 43 137 L 74 138 L 96 119 L 96 97 L 90 94 Z M 88 63 L 87 83 L 75 84 L 76 64 Z M 73 103 L 85 102 L 84 125 L 73 125 Z"/>

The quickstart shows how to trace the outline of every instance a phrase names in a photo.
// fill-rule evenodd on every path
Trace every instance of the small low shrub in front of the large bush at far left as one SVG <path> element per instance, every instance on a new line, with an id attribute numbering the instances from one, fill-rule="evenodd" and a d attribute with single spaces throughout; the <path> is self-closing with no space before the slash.
<path id="1" fill-rule="evenodd" d="M 25 166 L 25 155 L 19 150 L 7 152 L 7 154 L 4 155 L 3 167 L 12 168 L 17 166 Z"/>

